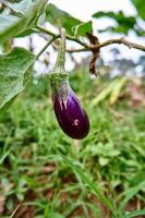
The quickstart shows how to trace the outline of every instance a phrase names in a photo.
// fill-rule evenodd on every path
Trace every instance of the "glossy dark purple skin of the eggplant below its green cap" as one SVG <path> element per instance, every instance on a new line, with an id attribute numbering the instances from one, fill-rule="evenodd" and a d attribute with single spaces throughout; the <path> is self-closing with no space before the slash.
<path id="1" fill-rule="evenodd" d="M 89 120 L 72 89 L 67 101 L 58 95 L 52 96 L 53 109 L 63 132 L 72 138 L 82 140 L 89 132 Z"/>

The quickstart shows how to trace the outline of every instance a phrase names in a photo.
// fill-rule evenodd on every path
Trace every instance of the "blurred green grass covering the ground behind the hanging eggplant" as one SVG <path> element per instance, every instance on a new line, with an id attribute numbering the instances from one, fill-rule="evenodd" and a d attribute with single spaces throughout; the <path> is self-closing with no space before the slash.
<path id="1" fill-rule="evenodd" d="M 0 116 L 0 217 L 145 216 L 144 108 L 93 107 L 100 82 L 70 77 L 90 119 L 85 140 L 59 129 L 45 80 Z"/>

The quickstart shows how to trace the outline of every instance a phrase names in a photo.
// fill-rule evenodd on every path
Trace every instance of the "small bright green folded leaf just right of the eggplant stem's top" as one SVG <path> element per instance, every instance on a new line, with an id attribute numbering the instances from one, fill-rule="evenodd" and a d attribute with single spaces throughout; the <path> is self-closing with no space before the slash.
<path id="1" fill-rule="evenodd" d="M 81 23 L 72 28 L 74 36 L 86 36 L 86 33 L 93 33 L 92 21 Z"/>

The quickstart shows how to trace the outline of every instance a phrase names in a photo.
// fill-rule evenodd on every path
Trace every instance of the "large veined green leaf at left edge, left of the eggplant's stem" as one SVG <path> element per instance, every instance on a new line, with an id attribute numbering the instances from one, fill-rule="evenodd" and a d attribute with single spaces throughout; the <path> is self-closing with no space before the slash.
<path id="1" fill-rule="evenodd" d="M 25 88 L 34 62 L 35 56 L 23 48 L 14 48 L 10 53 L 0 56 L 0 109 Z"/>

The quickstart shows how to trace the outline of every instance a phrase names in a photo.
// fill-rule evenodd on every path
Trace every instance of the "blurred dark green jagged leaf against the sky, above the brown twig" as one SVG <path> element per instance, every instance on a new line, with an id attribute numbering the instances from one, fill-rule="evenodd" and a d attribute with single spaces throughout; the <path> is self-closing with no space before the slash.
<path id="1" fill-rule="evenodd" d="M 110 31 L 110 32 L 116 32 L 116 33 L 123 33 L 128 34 L 129 31 L 133 29 L 134 26 L 136 25 L 136 19 L 134 16 L 125 16 L 122 11 L 114 13 L 112 11 L 110 12 L 97 12 L 93 14 L 93 17 L 95 19 L 101 19 L 101 17 L 109 17 L 116 21 L 114 26 L 107 27 L 104 31 Z"/>

